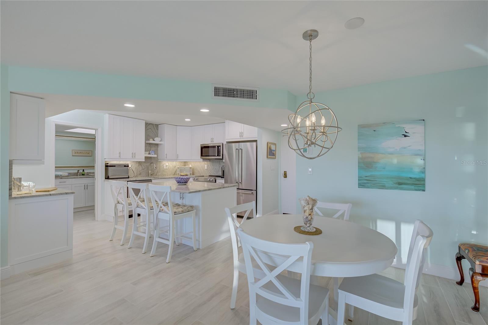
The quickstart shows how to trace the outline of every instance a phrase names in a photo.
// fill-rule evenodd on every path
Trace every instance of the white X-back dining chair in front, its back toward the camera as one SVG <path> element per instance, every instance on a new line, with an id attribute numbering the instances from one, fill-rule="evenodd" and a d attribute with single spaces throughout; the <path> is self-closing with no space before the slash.
<path id="1" fill-rule="evenodd" d="M 317 324 L 328 320 L 329 290 L 310 284 L 310 264 L 313 243 L 284 244 L 266 241 L 246 234 L 242 228 L 237 234 L 243 246 L 249 285 L 249 324 Z M 261 254 L 272 254 L 285 262 L 270 270 Z M 254 276 L 254 259 L 264 277 Z M 281 275 L 288 266 L 301 259 L 301 280 Z M 300 263 L 301 262 L 301 263 Z"/>

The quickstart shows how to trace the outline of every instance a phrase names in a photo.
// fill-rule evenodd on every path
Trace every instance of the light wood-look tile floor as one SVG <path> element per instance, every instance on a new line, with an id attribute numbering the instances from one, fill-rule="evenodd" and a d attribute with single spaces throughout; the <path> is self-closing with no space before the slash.
<path id="1" fill-rule="evenodd" d="M 247 280 L 241 274 L 235 309 L 229 308 L 232 249 L 222 240 L 193 252 L 175 246 L 166 264 L 167 245 L 154 257 L 142 254 L 143 238 L 127 249 L 122 231 L 108 241 L 112 224 L 94 221 L 93 211 L 74 217 L 73 259 L 1 281 L 1 324 L 248 324 Z M 150 243 L 152 243 L 152 238 Z M 316 248 L 317 249 L 317 248 Z M 404 270 L 382 274 L 403 281 Z M 330 278 L 320 283 L 332 293 Z M 416 325 L 487 325 L 488 289 L 480 287 L 481 312 L 469 308 L 469 284 L 426 275 L 418 291 Z M 332 294 L 330 304 L 334 306 Z M 335 308 L 335 307 L 334 307 Z M 349 325 L 400 324 L 355 308 Z"/>

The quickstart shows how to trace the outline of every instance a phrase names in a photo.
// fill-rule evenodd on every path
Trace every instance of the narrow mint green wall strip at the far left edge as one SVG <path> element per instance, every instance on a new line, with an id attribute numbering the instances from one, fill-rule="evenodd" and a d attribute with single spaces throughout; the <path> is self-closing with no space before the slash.
<path id="1" fill-rule="evenodd" d="M 0 65 L 0 267 L 8 263 L 8 146 L 10 134 L 10 93 L 8 67 Z"/>

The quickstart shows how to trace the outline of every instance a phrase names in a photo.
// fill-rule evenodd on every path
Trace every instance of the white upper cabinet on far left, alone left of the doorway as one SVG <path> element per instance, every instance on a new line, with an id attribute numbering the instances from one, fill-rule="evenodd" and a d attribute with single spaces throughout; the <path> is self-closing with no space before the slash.
<path id="1" fill-rule="evenodd" d="M 13 163 L 44 163 L 45 103 L 10 94 L 10 149 Z"/>

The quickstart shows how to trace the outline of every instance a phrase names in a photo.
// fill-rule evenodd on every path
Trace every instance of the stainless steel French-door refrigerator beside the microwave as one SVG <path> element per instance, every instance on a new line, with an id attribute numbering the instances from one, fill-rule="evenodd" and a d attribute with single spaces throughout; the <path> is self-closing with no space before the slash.
<path id="1" fill-rule="evenodd" d="M 256 176 L 258 165 L 258 145 L 256 142 L 225 144 L 226 183 L 237 183 L 237 204 L 256 200 Z"/>

